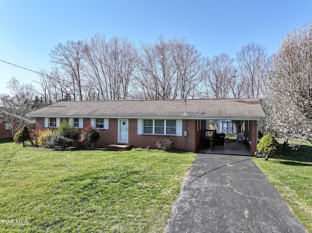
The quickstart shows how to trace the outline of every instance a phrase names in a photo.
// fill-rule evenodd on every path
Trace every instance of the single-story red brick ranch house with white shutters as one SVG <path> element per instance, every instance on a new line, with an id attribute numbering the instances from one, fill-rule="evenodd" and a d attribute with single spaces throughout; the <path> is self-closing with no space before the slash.
<path id="1" fill-rule="evenodd" d="M 96 146 L 129 143 L 156 148 L 169 138 L 172 149 L 196 151 L 208 129 L 207 120 L 243 120 L 251 154 L 256 151 L 257 125 L 265 113 L 258 99 L 61 101 L 30 112 L 36 128 L 56 128 L 63 121 L 75 127 L 93 125 L 101 137 Z"/>

